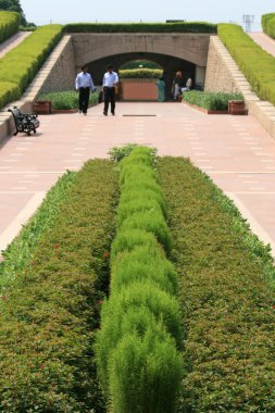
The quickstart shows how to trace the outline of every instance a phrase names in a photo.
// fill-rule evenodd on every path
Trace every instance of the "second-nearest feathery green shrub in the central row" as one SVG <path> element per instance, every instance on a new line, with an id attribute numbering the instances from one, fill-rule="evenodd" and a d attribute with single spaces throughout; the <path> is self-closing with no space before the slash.
<path id="1" fill-rule="evenodd" d="M 152 280 L 147 279 L 139 283 L 134 280 L 117 293 L 111 295 L 109 301 L 104 301 L 102 305 L 98 356 L 99 372 L 103 375 L 101 383 L 105 383 L 104 386 L 108 386 L 109 383 L 108 366 L 115 347 L 124 335 L 130 334 L 137 328 L 136 324 L 129 323 L 128 312 L 130 314 L 148 312 L 153 321 L 163 323 L 163 331 L 168 333 L 175 339 L 178 348 L 182 343 L 178 302 L 174 297 L 161 290 L 160 286 Z M 138 328 L 139 335 L 143 336 L 147 330 L 150 330 L 150 324 L 142 324 L 143 329 Z"/>

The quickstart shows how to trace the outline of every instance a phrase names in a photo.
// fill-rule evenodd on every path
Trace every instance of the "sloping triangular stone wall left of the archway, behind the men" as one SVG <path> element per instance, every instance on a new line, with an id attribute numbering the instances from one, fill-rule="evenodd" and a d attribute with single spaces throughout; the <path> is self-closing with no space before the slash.
<path id="1" fill-rule="evenodd" d="M 75 88 L 75 59 L 71 36 L 64 36 L 59 46 L 61 46 L 61 50 L 59 50 L 58 58 L 54 59 L 51 55 L 48 62 L 52 62 L 52 67 L 39 90 L 39 95 Z"/>

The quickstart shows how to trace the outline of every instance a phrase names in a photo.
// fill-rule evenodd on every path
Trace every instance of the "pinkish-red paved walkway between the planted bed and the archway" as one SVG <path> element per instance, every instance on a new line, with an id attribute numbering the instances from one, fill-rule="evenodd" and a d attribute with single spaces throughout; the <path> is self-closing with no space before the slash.
<path id="1" fill-rule="evenodd" d="M 39 118 L 36 136 L 20 134 L 0 149 L 0 249 L 66 170 L 137 142 L 157 147 L 160 155 L 189 157 L 275 253 L 275 140 L 251 116 L 207 115 L 183 103 L 118 102 L 115 116 L 103 116 L 101 104 L 87 116 Z"/>

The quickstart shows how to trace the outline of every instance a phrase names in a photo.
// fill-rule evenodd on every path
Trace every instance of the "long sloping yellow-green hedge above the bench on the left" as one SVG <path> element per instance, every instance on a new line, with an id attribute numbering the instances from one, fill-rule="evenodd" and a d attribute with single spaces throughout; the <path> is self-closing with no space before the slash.
<path id="1" fill-rule="evenodd" d="M 1 107 L 20 98 L 60 40 L 62 30 L 61 25 L 54 24 L 39 27 L 1 59 Z"/>

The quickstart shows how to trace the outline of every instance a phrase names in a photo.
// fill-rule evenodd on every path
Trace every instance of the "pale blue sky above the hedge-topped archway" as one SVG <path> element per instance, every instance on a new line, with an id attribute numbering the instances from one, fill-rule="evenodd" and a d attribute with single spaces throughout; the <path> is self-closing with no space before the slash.
<path id="1" fill-rule="evenodd" d="M 187 20 L 235 22 L 254 15 L 252 30 L 261 29 L 261 15 L 275 12 L 274 0 L 21 0 L 26 18 L 36 24 L 73 22 L 165 22 Z"/>

